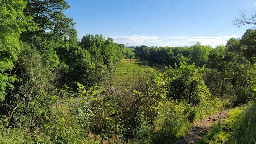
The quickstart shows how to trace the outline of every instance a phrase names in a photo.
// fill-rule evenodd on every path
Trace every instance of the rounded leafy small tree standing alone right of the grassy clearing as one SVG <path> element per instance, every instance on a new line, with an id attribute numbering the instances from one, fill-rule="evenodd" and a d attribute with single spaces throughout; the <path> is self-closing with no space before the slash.
<path id="1" fill-rule="evenodd" d="M 170 77 L 167 82 L 170 85 L 169 96 L 175 100 L 185 100 L 188 104 L 196 105 L 200 99 L 209 95 L 207 87 L 204 85 L 202 72 L 204 68 L 196 68 L 195 64 L 187 65 L 180 63 L 175 69 L 170 68 L 167 72 Z"/>

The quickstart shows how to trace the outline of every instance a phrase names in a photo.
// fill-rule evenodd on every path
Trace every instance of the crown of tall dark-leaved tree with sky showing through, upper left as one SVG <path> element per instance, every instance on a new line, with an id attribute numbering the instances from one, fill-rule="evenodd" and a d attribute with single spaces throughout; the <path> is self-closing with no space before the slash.
<path id="1" fill-rule="evenodd" d="M 29 43 L 40 43 L 44 40 L 51 41 L 54 38 L 58 40 L 63 36 L 71 35 L 75 24 L 63 13 L 69 7 L 64 0 L 28 0 L 24 14 L 33 17 L 32 20 L 39 29 L 35 32 L 29 30 L 23 33 L 23 40 Z M 38 44 L 34 45 L 38 46 Z"/>

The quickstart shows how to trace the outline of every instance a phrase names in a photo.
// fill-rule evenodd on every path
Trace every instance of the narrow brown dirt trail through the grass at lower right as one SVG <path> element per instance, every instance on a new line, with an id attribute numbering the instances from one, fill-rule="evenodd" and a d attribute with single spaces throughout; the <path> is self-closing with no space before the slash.
<path id="1" fill-rule="evenodd" d="M 203 138 L 210 130 L 212 124 L 223 121 L 228 117 L 230 109 L 218 112 L 212 116 L 207 116 L 203 120 L 197 121 L 187 134 L 180 138 L 177 143 L 179 144 L 196 144 L 199 139 Z"/>

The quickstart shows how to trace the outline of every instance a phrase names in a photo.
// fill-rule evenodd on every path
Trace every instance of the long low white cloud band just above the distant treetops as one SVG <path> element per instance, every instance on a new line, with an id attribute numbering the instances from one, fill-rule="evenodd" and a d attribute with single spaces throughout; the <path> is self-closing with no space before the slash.
<path id="1" fill-rule="evenodd" d="M 212 37 L 204 37 L 204 36 L 197 36 L 197 37 L 188 37 L 188 36 L 176 36 L 176 37 L 158 37 L 158 36 L 113 36 L 113 40 L 115 43 L 125 44 L 129 43 L 130 46 L 132 45 L 154 45 L 154 46 L 184 46 L 184 45 L 194 45 L 197 42 L 201 42 L 203 45 L 211 45 L 215 47 L 216 45 L 226 44 L 227 40 L 231 37 L 237 38 L 236 35 L 230 36 L 212 36 Z M 128 42 L 127 42 L 128 40 Z M 147 41 L 146 41 L 147 40 Z M 210 44 L 211 43 L 211 44 Z M 149 45 L 149 46 L 150 46 Z"/>

